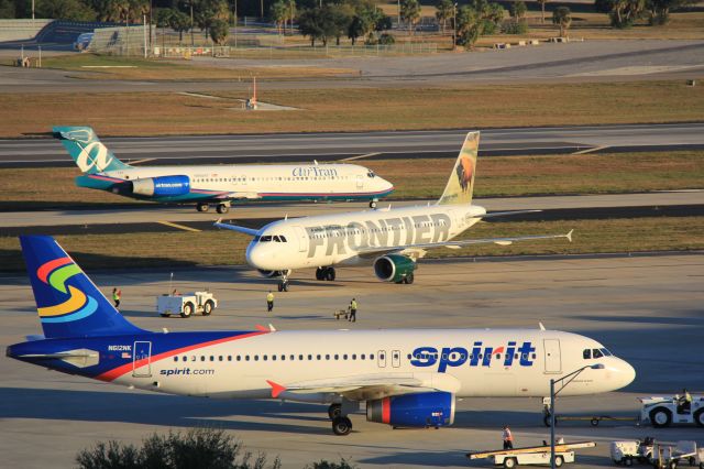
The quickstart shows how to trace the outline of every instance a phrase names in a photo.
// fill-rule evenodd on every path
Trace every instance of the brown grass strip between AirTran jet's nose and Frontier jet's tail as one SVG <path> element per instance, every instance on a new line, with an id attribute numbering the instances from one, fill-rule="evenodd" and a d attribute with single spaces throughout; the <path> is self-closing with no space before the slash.
<path id="1" fill-rule="evenodd" d="M 66 156 L 68 159 L 68 156 Z M 452 161 L 380 160 L 363 164 L 393 182 L 392 199 L 437 197 Z M 75 187 L 74 167 L 0 170 L 0 209 L 145 204 Z M 578 177 L 575 177 L 575 175 Z M 704 151 L 481 159 L 475 195 L 598 194 L 704 187 Z"/>

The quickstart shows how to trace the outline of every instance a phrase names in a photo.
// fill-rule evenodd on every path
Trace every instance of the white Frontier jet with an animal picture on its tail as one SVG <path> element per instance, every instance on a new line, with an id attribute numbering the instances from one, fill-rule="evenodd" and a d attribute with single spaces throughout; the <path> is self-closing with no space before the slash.
<path id="1" fill-rule="evenodd" d="M 274 221 L 258 230 L 222 223 L 216 226 L 253 237 L 246 261 L 260 273 L 278 277 L 278 291 L 288 291 L 294 269 L 317 268 L 316 279 L 333 281 L 334 265 L 371 263 L 385 282 L 413 283 L 418 259 L 431 248 L 459 249 L 480 243 L 566 238 L 566 234 L 452 241 L 483 218 L 517 214 L 487 214 L 472 205 L 480 133 L 466 135 L 442 196 L 420 207 L 377 209 Z M 522 210 L 526 212 L 531 210 Z M 538 211 L 538 210 L 532 210 Z"/>

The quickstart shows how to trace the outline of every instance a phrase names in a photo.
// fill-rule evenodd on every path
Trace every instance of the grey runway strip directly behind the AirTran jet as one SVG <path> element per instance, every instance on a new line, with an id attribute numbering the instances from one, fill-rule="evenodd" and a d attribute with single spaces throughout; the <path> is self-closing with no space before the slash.
<path id="1" fill-rule="evenodd" d="M 472 129 L 470 129 L 472 130 Z M 453 157 L 469 130 L 101 138 L 125 161 L 156 164 Z M 51 129 L 47 129 L 51 132 Z M 704 122 L 482 130 L 481 156 L 704 149 Z M 72 166 L 54 139 L 0 140 L 0 167 Z"/>

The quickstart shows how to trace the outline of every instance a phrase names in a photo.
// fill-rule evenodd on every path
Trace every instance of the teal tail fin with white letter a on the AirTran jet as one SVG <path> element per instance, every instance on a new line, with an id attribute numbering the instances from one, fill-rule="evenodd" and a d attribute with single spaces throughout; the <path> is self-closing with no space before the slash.
<path id="1" fill-rule="evenodd" d="M 55 127 L 53 130 L 84 174 L 132 167 L 118 160 L 89 127 Z"/>

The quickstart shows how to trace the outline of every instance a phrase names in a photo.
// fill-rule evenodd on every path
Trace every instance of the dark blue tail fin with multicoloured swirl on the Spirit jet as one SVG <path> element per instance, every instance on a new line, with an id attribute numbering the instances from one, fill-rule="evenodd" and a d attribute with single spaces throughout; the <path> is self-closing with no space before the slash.
<path id="1" fill-rule="evenodd" d="M 21 236 L 20 243 L 47 339 L 146 332 L 110 304 L 54 238 Z"/>

